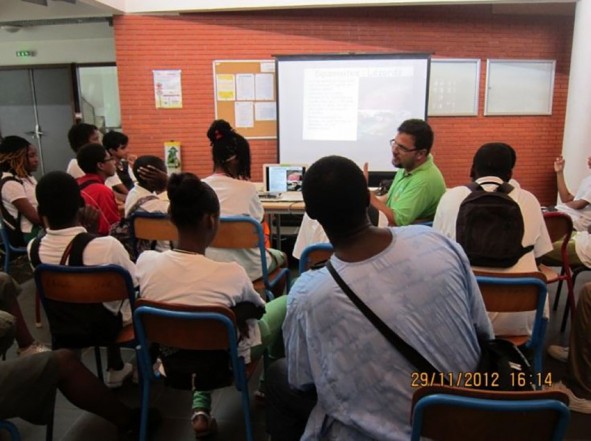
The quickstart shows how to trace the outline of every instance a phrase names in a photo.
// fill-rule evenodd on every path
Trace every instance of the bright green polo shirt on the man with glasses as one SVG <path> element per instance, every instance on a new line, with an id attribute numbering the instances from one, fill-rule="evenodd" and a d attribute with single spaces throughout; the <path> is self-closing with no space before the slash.
<path id="1" fill-rule="evenodd" d="M 398 170 L 386 205 L 394 211 L 396 225 L 409 225 L 417 219 L 433 219 L 443 193 L 445 180 L 429 154 L 427 161 L 413 171 Z"/>

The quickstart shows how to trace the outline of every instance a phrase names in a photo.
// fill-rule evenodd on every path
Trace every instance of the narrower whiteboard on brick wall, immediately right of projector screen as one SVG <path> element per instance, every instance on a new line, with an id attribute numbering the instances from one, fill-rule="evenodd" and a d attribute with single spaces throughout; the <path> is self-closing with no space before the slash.
<path id="1" fill-rule="evenodd" d="M 480 60 L 431 60 L 429 116 L 478 115 Z"/>

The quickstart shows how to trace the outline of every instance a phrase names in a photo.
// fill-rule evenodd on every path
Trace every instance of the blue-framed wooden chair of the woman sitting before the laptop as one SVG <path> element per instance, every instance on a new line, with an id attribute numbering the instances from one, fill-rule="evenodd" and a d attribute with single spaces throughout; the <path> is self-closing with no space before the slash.
<path id="1" fill-rule="evenodd" d="M 247 224 L 251 233 L 251 238 L 248 237 L 248 232 L 243 234 L 244 237 L 224 237 L 224 225 L 230 224 Z M 252 239 L 252 233 L 256 235 L 257 240 L 256 244 Z M 244 243 L 244 246 L 236 246 L 236 244 L 232 243 L 234 240 L 239 241 L 240 243 Z M 254 245 L 254 246 L 253 246 Z M 216 248 L 223 248 L 223 249 L 244 249 L 244 248 L 258 248 L 259 254 L 261 256 L 261 270 L 262 270 L 262 282 L 264 284 L 265 294 L 267 296 L 267 300 L 272 300 L 275 296 L 273 295 L 272 289 L 279 283 L 279 281 L 285 277 L 286 282 L 285 286 L 286 289 L 289 287 L 289 269 L 288 268 L 281 268 L 276 269 L 275 276 L 271 279 L 268 266 L 267 266 L 267 253 L 265 250 L 265 236 L 263 233 L 263 227 L 261 223 L 249 216 L 222 216 L 220 218 L 220 228 L 218 229 L 218 233 L 214 238 L 213 242 L 210 245 L 211 247 Z"/>

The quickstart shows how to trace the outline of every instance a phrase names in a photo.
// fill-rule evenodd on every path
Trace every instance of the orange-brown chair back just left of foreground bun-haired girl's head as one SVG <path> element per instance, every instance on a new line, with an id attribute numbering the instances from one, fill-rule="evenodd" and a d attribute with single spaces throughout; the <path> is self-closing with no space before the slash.
<path id="1" fill-rule="evenodd" d="M 179 232 L 170 217 L 163 213 L 136 211 L 130 217 L 130 236 L 135 258 L 137 259 L 138 240 L 177 242 Z"/>

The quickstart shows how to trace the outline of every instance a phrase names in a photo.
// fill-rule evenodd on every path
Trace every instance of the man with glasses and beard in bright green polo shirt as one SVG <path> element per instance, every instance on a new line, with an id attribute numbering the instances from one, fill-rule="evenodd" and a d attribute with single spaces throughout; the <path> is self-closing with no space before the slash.
<path id="1" fill-rule="evenodd" d="M 399 170 L 387 195 L 371 193 L 371 204 L 386 215 L 389 225 L 433 219 L 445 181 L 431 155 L 431 127 L 420 119 L 406 120 L 390 145 L 392 164 Z"/>

